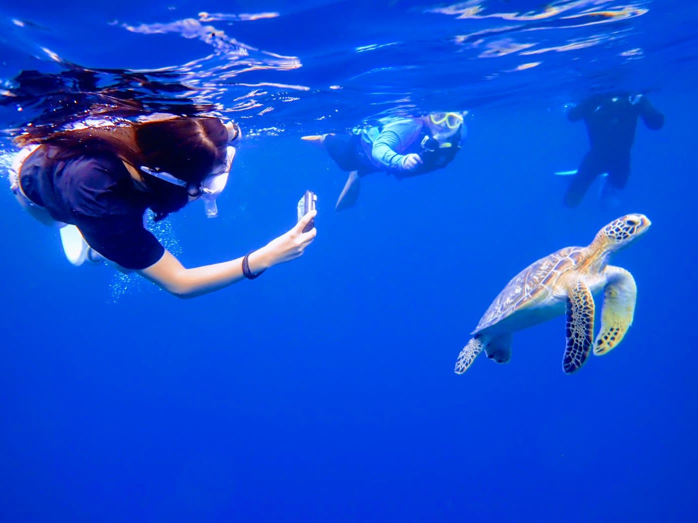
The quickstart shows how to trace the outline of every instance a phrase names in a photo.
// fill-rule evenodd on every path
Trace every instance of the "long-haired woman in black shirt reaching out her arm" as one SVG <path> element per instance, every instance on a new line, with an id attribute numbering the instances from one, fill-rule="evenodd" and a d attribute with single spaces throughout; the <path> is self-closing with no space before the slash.
<path id="1" fill-rule="evenodd" d="M 241 137 L 233 122 L 183 116 L 20 137 L 24 149 L 10 167 L 10 185 L 33 218 L 60 227 L 73 264 L 107 259 L 192 298 L 295 259 L 315 237 L 315 229 L 302 232 L 311 211 L 244 257 L 184 268 L 144 227 L 147 209 L 158 221 L 199 198 L 215 216 Z"/>

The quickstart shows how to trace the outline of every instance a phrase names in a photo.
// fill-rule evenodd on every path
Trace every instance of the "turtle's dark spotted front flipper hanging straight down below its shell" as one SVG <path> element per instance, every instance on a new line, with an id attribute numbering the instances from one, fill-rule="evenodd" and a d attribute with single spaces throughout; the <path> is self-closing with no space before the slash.
<path id="1" fill-rule="evenodd" d="M 567 347 L 563 370 L 570 374 L 584 365 L 594 333 L 594 298 L 581 280 L 567 294 Z"/>

